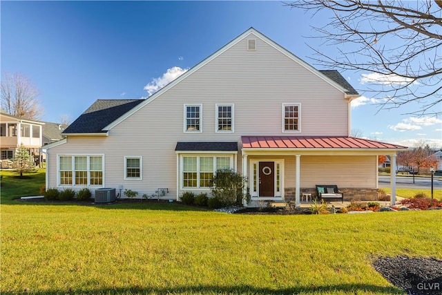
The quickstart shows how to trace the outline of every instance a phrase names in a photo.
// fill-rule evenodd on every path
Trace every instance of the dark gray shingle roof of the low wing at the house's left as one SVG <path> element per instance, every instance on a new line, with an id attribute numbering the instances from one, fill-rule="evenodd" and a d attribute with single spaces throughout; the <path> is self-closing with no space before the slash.
<path id="1" fill-rule="evenodd" d="M 63 133 L 105 133 L 104 127 L 141 102 L 144 102 L 144 99 L 98 99 Z"/>

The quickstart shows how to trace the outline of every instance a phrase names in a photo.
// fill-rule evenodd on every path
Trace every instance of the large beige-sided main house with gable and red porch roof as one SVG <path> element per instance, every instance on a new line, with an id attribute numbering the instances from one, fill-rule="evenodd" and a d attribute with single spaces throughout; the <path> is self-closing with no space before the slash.
<path id="1" fill-rule="evenodd" d="M 376 198 L 378 155 L 405 146 L 349 137 L 358 93 L 250 28 L 148 99 L 97 100 L 45 146 L 46 187 L 124 189 L 178 200 L 215 171 L 247 177 L 252 200 L 296 200 L 315 184 Z M 392 173 L 392 191 L 395 191 Z M 393 201 L 394 202 L 394 201 Z"/>

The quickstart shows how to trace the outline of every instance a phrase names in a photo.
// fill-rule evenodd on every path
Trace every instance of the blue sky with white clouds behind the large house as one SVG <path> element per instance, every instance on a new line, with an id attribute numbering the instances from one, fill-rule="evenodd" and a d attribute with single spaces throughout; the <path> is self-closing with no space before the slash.
<path id="1" fill-rule="evenodd" d="M 1 1 L 1 73 L 21 73 L 39 88 L 44 120 L 75 120 L 96 99 L 147 97 L 250 27 L 318 69 L 309 46 L 336 55 L 312 17 L 279 1 Z M 309 46 L 307 46 L 307 44 Z M 341 72 L 363 95 L 352 107 L 362 137 L 442 147 L 442 120 L 378 112 L 363 88 L 369 73 Z M 150 87 L 146 87 L 150 86 Z M 437 107 L 441 107 L 440 105 Z"/>

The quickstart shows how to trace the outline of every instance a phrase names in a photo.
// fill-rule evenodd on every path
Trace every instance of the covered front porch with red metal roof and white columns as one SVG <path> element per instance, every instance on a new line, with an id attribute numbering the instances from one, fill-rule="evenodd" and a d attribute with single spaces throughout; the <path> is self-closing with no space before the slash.
<path id="1" fill-rule="evenodd" d="M 243 136 L 241 141 L 249 205 L 294 201 L 300 207 L 303 193 L 316 198 L 316 184 L 335 184 L 353 194 L 377 191 L 378 155 L 390 155 L 395 165 L 397 151 L 407 149 L 355 137 Z M 396 204 L 394 173 L 391 186 L 391 203 Z"/>

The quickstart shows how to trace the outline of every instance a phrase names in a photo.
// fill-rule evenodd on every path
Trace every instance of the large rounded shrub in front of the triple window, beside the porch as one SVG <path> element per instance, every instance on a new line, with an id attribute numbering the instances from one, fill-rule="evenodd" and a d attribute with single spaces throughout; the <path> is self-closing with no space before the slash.
<path id="1" fill-rule="evenodd" d="M 212 195 L 221 201 L 223 207 L 241 204 L 245 182 L 246 179 L 233 169 L 220 169 L 213 176 Z"/>

